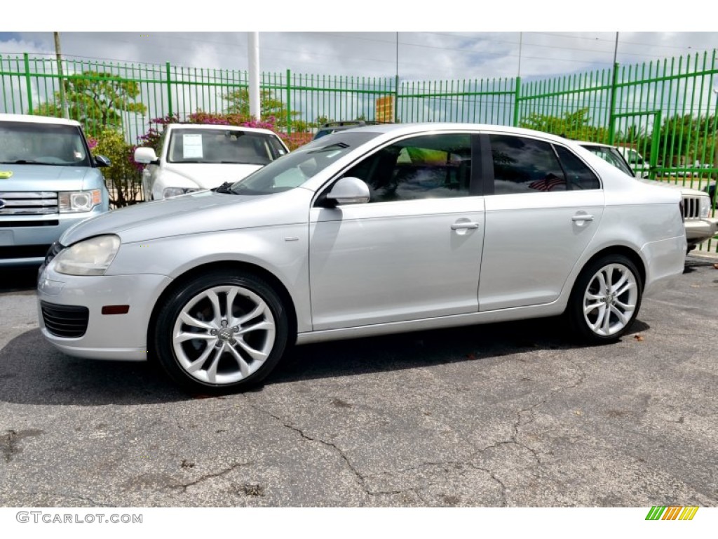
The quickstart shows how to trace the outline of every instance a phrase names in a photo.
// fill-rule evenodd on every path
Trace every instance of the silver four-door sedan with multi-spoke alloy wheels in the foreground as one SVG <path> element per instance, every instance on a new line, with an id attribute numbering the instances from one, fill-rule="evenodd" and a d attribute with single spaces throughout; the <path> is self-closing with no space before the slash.
<path id="1" fill-rule="evenodd" d="M 561 314 L 610 342 L 684 269 L 680 200 L 549 134 L 365 126 L 73 227 L 39 322 L 67 354 L 156 358 L 205 393 L 261 381 L 294 343 Z"/>

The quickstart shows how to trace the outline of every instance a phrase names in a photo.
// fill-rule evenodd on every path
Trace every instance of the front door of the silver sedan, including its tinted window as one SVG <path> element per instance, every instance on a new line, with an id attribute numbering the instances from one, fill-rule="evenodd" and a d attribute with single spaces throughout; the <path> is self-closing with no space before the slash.
<path id="1" fill-rule="evenodd" d="M 364 180 L 368 203 L 329 208 L 318 198 L 315 331 L 477 311 L 484 201 L 471 182 L 471 144 L 468 133 L 398 140 L 340 175 Z"/>

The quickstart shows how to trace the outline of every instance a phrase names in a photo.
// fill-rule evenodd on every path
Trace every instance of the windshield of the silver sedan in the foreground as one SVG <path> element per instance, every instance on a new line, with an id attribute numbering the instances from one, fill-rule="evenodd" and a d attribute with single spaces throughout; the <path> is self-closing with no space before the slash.
<path id="1" fill-rule="evenodd" d="M 294 189 L 377 135 L 370 132 L 332 133 L 239 180 L 232 185 L 231 191 L 238 195 L 269 195 Z"/>

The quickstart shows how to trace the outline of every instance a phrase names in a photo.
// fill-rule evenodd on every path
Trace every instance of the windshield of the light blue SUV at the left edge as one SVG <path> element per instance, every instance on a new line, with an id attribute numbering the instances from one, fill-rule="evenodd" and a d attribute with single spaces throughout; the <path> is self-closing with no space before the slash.
<path id="1" fill-rule="evenodd" d="M 90 159 L 78 126 L 1 121 L 0 163 L 89 167 Z"/>

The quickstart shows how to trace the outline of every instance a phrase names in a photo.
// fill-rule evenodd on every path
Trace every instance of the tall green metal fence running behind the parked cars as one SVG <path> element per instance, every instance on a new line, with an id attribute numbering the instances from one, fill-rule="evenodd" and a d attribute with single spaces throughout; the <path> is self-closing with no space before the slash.
<path id="1" fill-rule="evenodd" d="M 702 189 L 718 176 L 716 60 L 713 50 L 527 80 L 410 81 L 287 70 L 263 73 L 260 87 L 263 114 L 274 115 L 286 133 L 350 119 L 526 126 L 632 148 L 651 178 Z M 121 128 L 129 144 L 151 119 L 248 111 L 247 88 L 248 74 L 239 70 L 0 55 L 0 112 L 69 114 L 89 134 Z M 718 251 L 717 242 L 709 248 Z"/>

